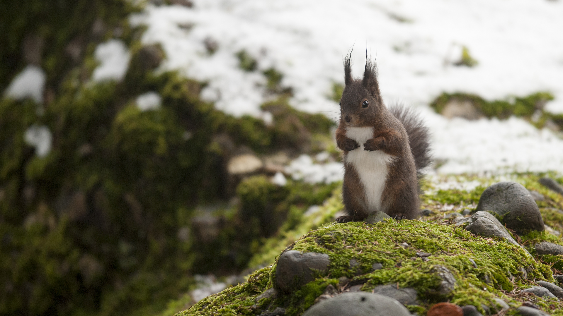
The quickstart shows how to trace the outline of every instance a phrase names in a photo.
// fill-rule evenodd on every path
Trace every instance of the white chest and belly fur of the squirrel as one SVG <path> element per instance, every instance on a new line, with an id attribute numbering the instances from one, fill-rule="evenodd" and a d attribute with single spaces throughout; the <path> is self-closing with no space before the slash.
<path id="1" fill-rule="evenodd" d="M 373 127 L 348 127 L 346 137 L 354 139 L 360 145 L 359 148 L 349 151 L 345 160 L 358 172 L 360 182 L 364 186 L 369 213 L 385 211 L 381 209 L 381 200 L 387 179 L 387 166 L 393 162 L 394 156 L 381 150 L 364 150 L 365 141 L 373 138 Z"/>

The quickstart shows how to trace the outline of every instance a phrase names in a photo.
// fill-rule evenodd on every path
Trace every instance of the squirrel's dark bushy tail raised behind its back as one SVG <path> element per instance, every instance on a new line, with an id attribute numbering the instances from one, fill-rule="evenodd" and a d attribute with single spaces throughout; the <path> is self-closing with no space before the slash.
<path id="1" fill-rule="evenodd" d="M 406 133 L 409 135 L 410 151 L 414 156 L 414 165 L 418 176 L 420 171 L 432 161 L 430 156 L 430 133 L 418 114 L 405 106 L 391 107 L 391 113 L 403 123 Z"/>

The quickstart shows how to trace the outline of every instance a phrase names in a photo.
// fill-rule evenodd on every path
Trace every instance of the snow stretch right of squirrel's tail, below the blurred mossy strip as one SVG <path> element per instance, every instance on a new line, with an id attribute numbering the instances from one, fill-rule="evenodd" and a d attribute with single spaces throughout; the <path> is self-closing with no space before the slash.
<path id="1" fill-rule="evenodd" d="M 430 110 L 423 116 L 432 132 L 434 157 L 445 161 L 440 173 L 563 172 L 563 139 L 546 128 L 514 117 L 447 120 Z"/>

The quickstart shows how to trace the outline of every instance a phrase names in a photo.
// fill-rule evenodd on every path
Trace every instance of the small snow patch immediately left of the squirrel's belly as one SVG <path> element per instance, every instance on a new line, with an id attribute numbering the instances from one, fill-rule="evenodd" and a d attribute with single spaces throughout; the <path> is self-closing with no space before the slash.
<path id="1" fill-rule="evenodd" d="M 342 180 L 344 168 L 340 162 L 315 164 L 309 155 L 301 155 L 285 167 L 294 180 L 308 183 L 332 183 Z"/>

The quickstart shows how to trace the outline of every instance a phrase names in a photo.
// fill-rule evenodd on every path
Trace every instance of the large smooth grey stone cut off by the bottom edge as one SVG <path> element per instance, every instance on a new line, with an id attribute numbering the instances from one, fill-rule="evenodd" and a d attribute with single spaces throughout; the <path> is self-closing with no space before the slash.
<path id="1" fill-rule="evenodd" d="M 410 312 L 391 297 L 355 292 L 320 301 L 303 316 L 410 316 Z"/>

